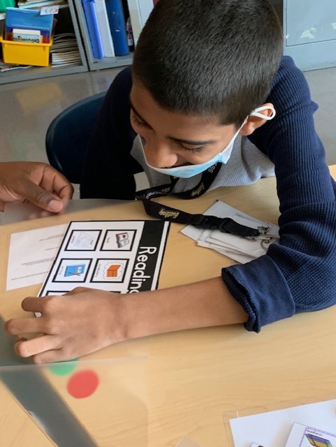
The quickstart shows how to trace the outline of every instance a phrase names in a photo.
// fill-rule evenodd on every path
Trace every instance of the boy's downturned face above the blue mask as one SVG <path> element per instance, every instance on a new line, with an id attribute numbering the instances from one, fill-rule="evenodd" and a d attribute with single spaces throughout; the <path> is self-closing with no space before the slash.
<path id="1" fill-rule="evenodd" d="M 180 115 L 160 108 L 140 82 L 133 83 L 130 98 L 132 127 L 145 140 L 147 163 L 155 168 L 205 163 L 237 131 L 234 124 L 217 124 L 215 117 Z"/>

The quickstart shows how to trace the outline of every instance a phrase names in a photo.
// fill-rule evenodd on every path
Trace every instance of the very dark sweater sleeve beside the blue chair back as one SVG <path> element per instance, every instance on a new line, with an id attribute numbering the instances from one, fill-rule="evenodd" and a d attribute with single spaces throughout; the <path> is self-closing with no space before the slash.
<path id="1" fill-rule="evenodd" d="M 88 142 L 81 198 L 134 199 L 133 174 L 142 168 L 130 155 L 136 137 L 129 119 L 131 86 L 131 67 L 127 67 L 108 89 Z"/>

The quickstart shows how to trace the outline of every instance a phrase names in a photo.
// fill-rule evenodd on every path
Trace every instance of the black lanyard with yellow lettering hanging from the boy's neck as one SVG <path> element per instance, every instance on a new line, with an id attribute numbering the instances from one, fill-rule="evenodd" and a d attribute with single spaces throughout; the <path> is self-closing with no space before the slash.
<path id="1" fill-rule="evenodd" d="M 210 185 L 214 181 L 214 178 L 219 173 L 221 163 L 216 163 L 202 173 L 200 182 L 192 189 L 188 191 L 182 191 L 180 193 L 173 193 L 173 196 L 189 200 L 202 196 Z M 179 178 L 170 177 L 171 182 L 163 184 L 161 186 L 154 186 L 154 188 L 143 189 L 136 192 L 136 198 L 143 201 L 145 211 L 149 216 L 156 217 L 156 219 L 162 219 L 170 222 L 184 223 L 186 225 L 192 225 L 196 228 L 203 228 L 204 230 L 219 230 L 222 233 L 230 233 L 241 237 L 254 238 L 265 233 L 265 228 L 256 230 L 255 228 L 249 228 L 248 226 L 240 225 L 229 217 L 216 217 L 205 216 L 203 214 L 189 214 L 176 208 L 167 207 L 166 205 L 160 205 L 159 203 L 152 202 L 153 198 L 167 196 L 172 193 L 174 186 L 177 184 Z"/>

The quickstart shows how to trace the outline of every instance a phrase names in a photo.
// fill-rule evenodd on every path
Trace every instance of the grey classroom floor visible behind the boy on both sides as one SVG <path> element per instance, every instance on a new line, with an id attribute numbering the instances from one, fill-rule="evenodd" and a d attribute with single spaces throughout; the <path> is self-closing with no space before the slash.
<path id="1" fill-rule="evenodd" d="M 47 161 L 45 133 L 68 105 L 108 89 L 122 68 L 0 85 L 0 161 Z M 316 129 L 328 164 L 336 163 L 336 67 L 305 72 L 319 104 Z"/>

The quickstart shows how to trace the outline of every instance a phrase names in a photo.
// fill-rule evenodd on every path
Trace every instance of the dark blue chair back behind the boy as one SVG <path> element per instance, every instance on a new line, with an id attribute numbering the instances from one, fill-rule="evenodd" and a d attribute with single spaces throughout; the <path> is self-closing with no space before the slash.
<path id="1" fill-rule="evenodd" d="M 105 94 L 103 91 L 70 105 L 48 127 L 48 161 L 71 183 L 80 183 L 87 142 Z"/>

